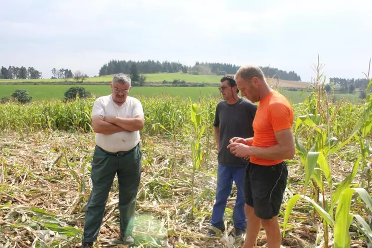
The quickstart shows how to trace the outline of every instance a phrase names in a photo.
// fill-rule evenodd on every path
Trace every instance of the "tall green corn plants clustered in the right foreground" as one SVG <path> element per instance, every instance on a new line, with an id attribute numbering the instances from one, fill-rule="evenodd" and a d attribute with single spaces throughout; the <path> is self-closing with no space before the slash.
<path id="1" fill-rule="evenodd" d="M 319 61 L 316 67 L 317 78 L 315 80 L 315 87 L 313 92 L 309 95 L 308 101 L 305 102 L 308 105 L 307 110 L 310 112 L 307 115 L 299 116 L 295 124 L 295 134 L 302 127 L 310 128 L 314 133 L 311 138 L 312 146 L 307 150 L 296 137 L 296 149 L 301 159 L 301 163 L 305 169 L 305 187 L 303 194 L 294 195 L 287 203 L 285 217 L 284 217 L 284 229 L 289 219 L 289 215 L 294 207 L 294 204 L 299 200 L 303 199 L 311 203 L 314 210 L 319 214 L 321 220 L 324 223 L 325 230 L 325 247 L 329 245 L 328 228 L 334 232 L 334 244 L 335 248 L 349 247 L 350 246 L 350 234 L 349 227 L 352 220 L 355 218 L 364 228 L 366 236 L 372 241 L 371 229 L 369 225 L 359 215 L 349 214 L 351 209 L 351 198 L 354 192 L 357 192 L 362 200 L 367 205 L 370 211 L 372 210 L 372 198 L 363 188 L 350 188 L 352 181 L 357 175 L 360 167 L 360 162 L 364 167 L 367 165 L 367 155 L 371 154 L 370 142 L 367 140 L 367 135 L 371 131 L 372 127 L 372 97 L 371 97 L 371 85 L 372 81 L 367 88 L 367 92 L 370 94 L 366 98 L 365 109 L 351 131 L 349 137 L 342 143 L 339 143 L 338 139 L 333 136 L 332 126 L 337 113 L 341 109 L 341 104 L 335 106 L 333 109 L 333 115 L 330 114 L 330 102 L 328 101 L 328 95 L 324 90 L 324 81 L 320 82 L 320 70 Z M 318 95 L 317 101 L 315 96 Z M 361 137 L 357 134 L 361 132 Z M 333 191 L 333 177 L 331 163 L 329 163 L 328 157 L 330 154 L 337 152 L 342 147 L 347 145 L 353 138 L 361 141 L 361 155 L 355 161 L 352 172 L 336 187 Z M 364 168 L 363 167 L 363 168 Z M 330 189 L 328 199 L 326 198 L 324 178 L 328 183 Z M 305 195 L 307 185 L 313 180 L 314 186 L 318 186 L 318 189 L 322 191 L 322 206 L 318 203 L 318 198 L 311 199 Z M 314 194 L 317 196 L 317 194 Z M 336 215 L 334 215 L 334 207 L 336 208 Z M 283 234 L 284 235 L 284 234 Z"/>

